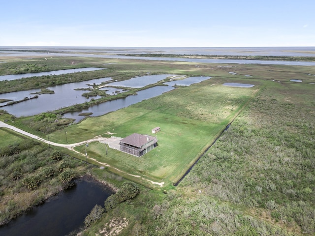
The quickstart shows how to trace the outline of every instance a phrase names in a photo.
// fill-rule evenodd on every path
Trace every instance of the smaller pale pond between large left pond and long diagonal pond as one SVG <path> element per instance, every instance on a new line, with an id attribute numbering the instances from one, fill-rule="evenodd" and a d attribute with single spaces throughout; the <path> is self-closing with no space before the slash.
<path id="1" fill-rule="evenodd" d="M 129 88 L 142 88 L 147 85 L 152 85 L 157 83 L 158 81 L 164 80 L 167 77 L 176 76 L 171 74 L 163 74 L 163 75 L 145 75 L 134 77 L 129 80 L 117 81 L 113 83 L 109 83 L 110 86 L 119 86 L 119 87 L 129 87 Z"/>

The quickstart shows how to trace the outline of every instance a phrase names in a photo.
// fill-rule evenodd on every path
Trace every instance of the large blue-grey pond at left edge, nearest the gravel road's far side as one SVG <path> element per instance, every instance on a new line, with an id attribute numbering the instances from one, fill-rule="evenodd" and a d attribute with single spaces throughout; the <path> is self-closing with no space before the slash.
<path id="1" fill-rule="evenodd" d="M 68 107 L 74 104 L 84 103 L 91 98 L 98 99 L 100 96 L 86 98 L 82 96 L 86 90 L 74 90 L 89 88 L 89 85 L 101 84 L 102 82 L 110 81 L 111 78 L 100 78 L 94 80 L 88 80 L 83 82 L 69 83 L 64 85 L 57 85 L 48 87 L 47 89 L 55 91 L 53 94 L 40 94 L 38 98 L 26 100 L 20 103 L 15 103 L 2 107 L 8 113 L 16 116 L 33 116 L 47 111 L 54 111 L 62 107 Z M 32 89 L 28 91 L 8 92 L 0 94 L 0 99 L 11 99 L 14 101 L 22 100 L 25 97 L 33 97 L 36 94 L 30 94 L 39 92 L 40 89 Z M 2 105 L 1 103 L 0 105 Z M 4 104 L 3 104 L 4 105 Z"/>

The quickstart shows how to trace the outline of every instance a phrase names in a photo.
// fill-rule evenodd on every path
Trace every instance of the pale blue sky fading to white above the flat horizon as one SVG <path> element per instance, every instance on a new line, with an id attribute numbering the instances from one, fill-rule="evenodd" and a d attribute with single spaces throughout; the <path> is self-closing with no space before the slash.
<path id="1" fill-rule="evenodd" d="M 314 0 L 0 0 L 0 46 L 315 46 Z"/>

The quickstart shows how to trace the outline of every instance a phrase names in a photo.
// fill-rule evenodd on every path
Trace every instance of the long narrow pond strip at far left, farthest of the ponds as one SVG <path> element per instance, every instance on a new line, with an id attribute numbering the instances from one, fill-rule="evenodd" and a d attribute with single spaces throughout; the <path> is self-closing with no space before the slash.
<path id="1" fill-rule="evenodd" d="M 62 75 L 62 74 L 70 74 L 76 72 L 84 72 L 84 71 L 94 71 L 94 70 L 105 70 L 106 68 L 97 68 L 97 67 L 86 67 L 86 68 L 77 68 L 77 69 L 66 69 L 66 70 L 53 70 L 39 73 L 27 73 L 27 74 L 18 74 L 18 75 L 1 75 L 0 81 L 3 80 L 18 80 L 21 78 L 29 78 L 33 76 L 44 76 L 44 75 Z"/>

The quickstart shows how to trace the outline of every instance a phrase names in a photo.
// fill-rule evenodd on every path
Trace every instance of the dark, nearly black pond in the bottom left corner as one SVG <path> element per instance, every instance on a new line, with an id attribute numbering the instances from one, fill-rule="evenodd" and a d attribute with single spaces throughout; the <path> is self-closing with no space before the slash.
<path id="1" fill-rule="evenodd" d="M 78 179 L 70 189 L 0 227 L 0 235 L 67 235 L 84 225 L 85 217 L 96 204 L 104 207 L 104 201 L 112 194 L 108 187 L 92 179 Z"/>

